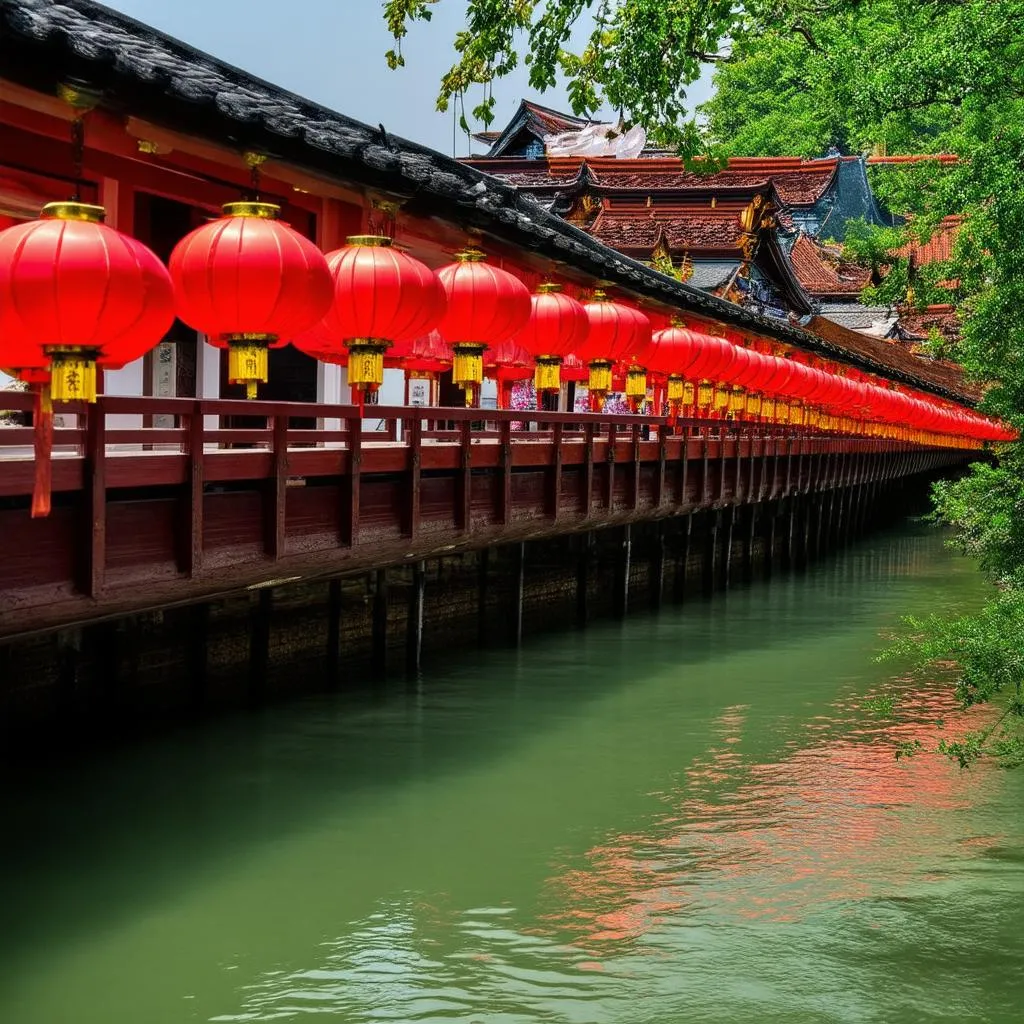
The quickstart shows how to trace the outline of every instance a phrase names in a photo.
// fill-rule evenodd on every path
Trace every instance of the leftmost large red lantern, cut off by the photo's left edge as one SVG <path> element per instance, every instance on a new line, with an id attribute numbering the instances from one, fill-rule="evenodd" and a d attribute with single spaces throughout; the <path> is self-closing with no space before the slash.
<path id="1" fill-rule="evenodd" d="M 148 351 L 174 319 L 171 281 L 140 242 L 84 203 L 50 203 L 0 232 L 0 366 L 51 366 L 57 401 L 96 398 L 96 360 Z"/>

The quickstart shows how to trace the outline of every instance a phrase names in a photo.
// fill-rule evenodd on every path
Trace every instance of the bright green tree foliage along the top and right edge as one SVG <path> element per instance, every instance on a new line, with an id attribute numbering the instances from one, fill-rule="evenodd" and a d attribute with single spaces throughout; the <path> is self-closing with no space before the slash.
<path id="1" fill-rule="evenodd" d="M 387 0 L 400 45 L 412 20 L 445 0 Z M 593 19 L 585 45 L 571 29 Z M 543 91 L 558 75 L 574 111 L 601 103 L 645 126 L 684 156 L 795 154 L 828 145 L 864 152 L 951 153 L 876 172 L 894 210 L 912 214 L 904 236 L 853 232 L 852 255 L 886 278 L 872 297 L 899 299 L 908 285 L 897 243 L 927 238 L 963 214 L 952 257 L 912 282 L 918 301 L 956 282 L 962 337 L 949 353 L 985 386 L 983 408 L 1024 426 L 1024 0 L 468 0 L 458 60 L 441 82 L 441 109 L 473 85 L 528 62 Z M 714 99 L 698 112 L 686 90 L 716 67 Z M 487 122 L 488 97 L 474 111 Z M 701 120 L 702 119 L 702 120 Z M 709 164 L 712 161 L 708 162 Z M 945 294 L 948 294 L 947 292 Z M 970 763 L 985 752 L 1012 760 L 1008 725 L 1021 721 L 1016 654 L 1024 635 L 1024 457 L 1011 447 L 941 486 L 937 515 L 980 561 L 994 597 L 981 614 L 915 624 L 921 658 L 959 666 L 965 702 L 1004 699 L 998 735 L 946 753 Z M 909 642 L 909 641 L 908 641 Z M 1008 745 L 1011 744 L 1011 745 Z"/>

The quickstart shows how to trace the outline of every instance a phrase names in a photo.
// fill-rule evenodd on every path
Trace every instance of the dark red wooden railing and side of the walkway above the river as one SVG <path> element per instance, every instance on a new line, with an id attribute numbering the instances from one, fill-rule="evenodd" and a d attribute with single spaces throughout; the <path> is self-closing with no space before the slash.
<path id="1" fill-rule="evenodd" d="M 0 431 L 0 637 L 700 510 L 828 496 L 852 516 L 973 455 L 761 424 L 373 416 L 380 430 L 350 407 L 101 398 L 57 431 L 43 519 L 31 432 Z M 114 429 L 130 417 L 172 425 Z"/>

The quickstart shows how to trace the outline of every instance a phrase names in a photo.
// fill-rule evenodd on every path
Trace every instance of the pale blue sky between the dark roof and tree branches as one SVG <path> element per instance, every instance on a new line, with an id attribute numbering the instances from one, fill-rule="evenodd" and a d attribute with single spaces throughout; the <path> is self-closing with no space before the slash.
<path id="1" fill-rule="evenodd" d="M 392 40 L 381 0 L 103 2 L 274 85 L 359 121 L 383 124 L 393 135 L 453 153 L 452 113 L 437 113 L 434 103 L 437 83 L 455 60 L 452 40 L 464 28 L 465 0 L 440 0 L 432 22 L 414 26 L 402 43 L 407 67 L 393 72 L 384 62 Z M 522 67 L 496 83 L 494 91 L 495 128 L 505 126 L 524 96 L 570 110 L 562 88 L 534 93 Z M 699 101 L 709 94 L 700 82 L 692 97 Z M 465 134 L 458 133 L 455 155 L 466 156 L 468 146 Z M 481 152 L 479 143 L 473 148 Z"/>

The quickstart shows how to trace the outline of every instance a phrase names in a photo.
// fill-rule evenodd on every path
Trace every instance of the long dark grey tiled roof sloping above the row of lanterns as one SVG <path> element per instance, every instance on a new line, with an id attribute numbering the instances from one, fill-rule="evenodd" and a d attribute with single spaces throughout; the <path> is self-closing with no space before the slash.
<path id="1" fill-rule="evenodd" d="M 648 301 L 963 396 L 948 375 L 936 378 L 925 360 L 906 364 L 895 346 L 848 347 L 691 288 L 471 166 L 274 86 L 93 0 L 0 0 L 0 68 L 5 80 L 49 95 L 69 77 L 83 80 L 102 91 L 108 108 L 239 153 L 267 154 L 326 182 L 401 198 L 411 216 L 475 228 Z"/>

